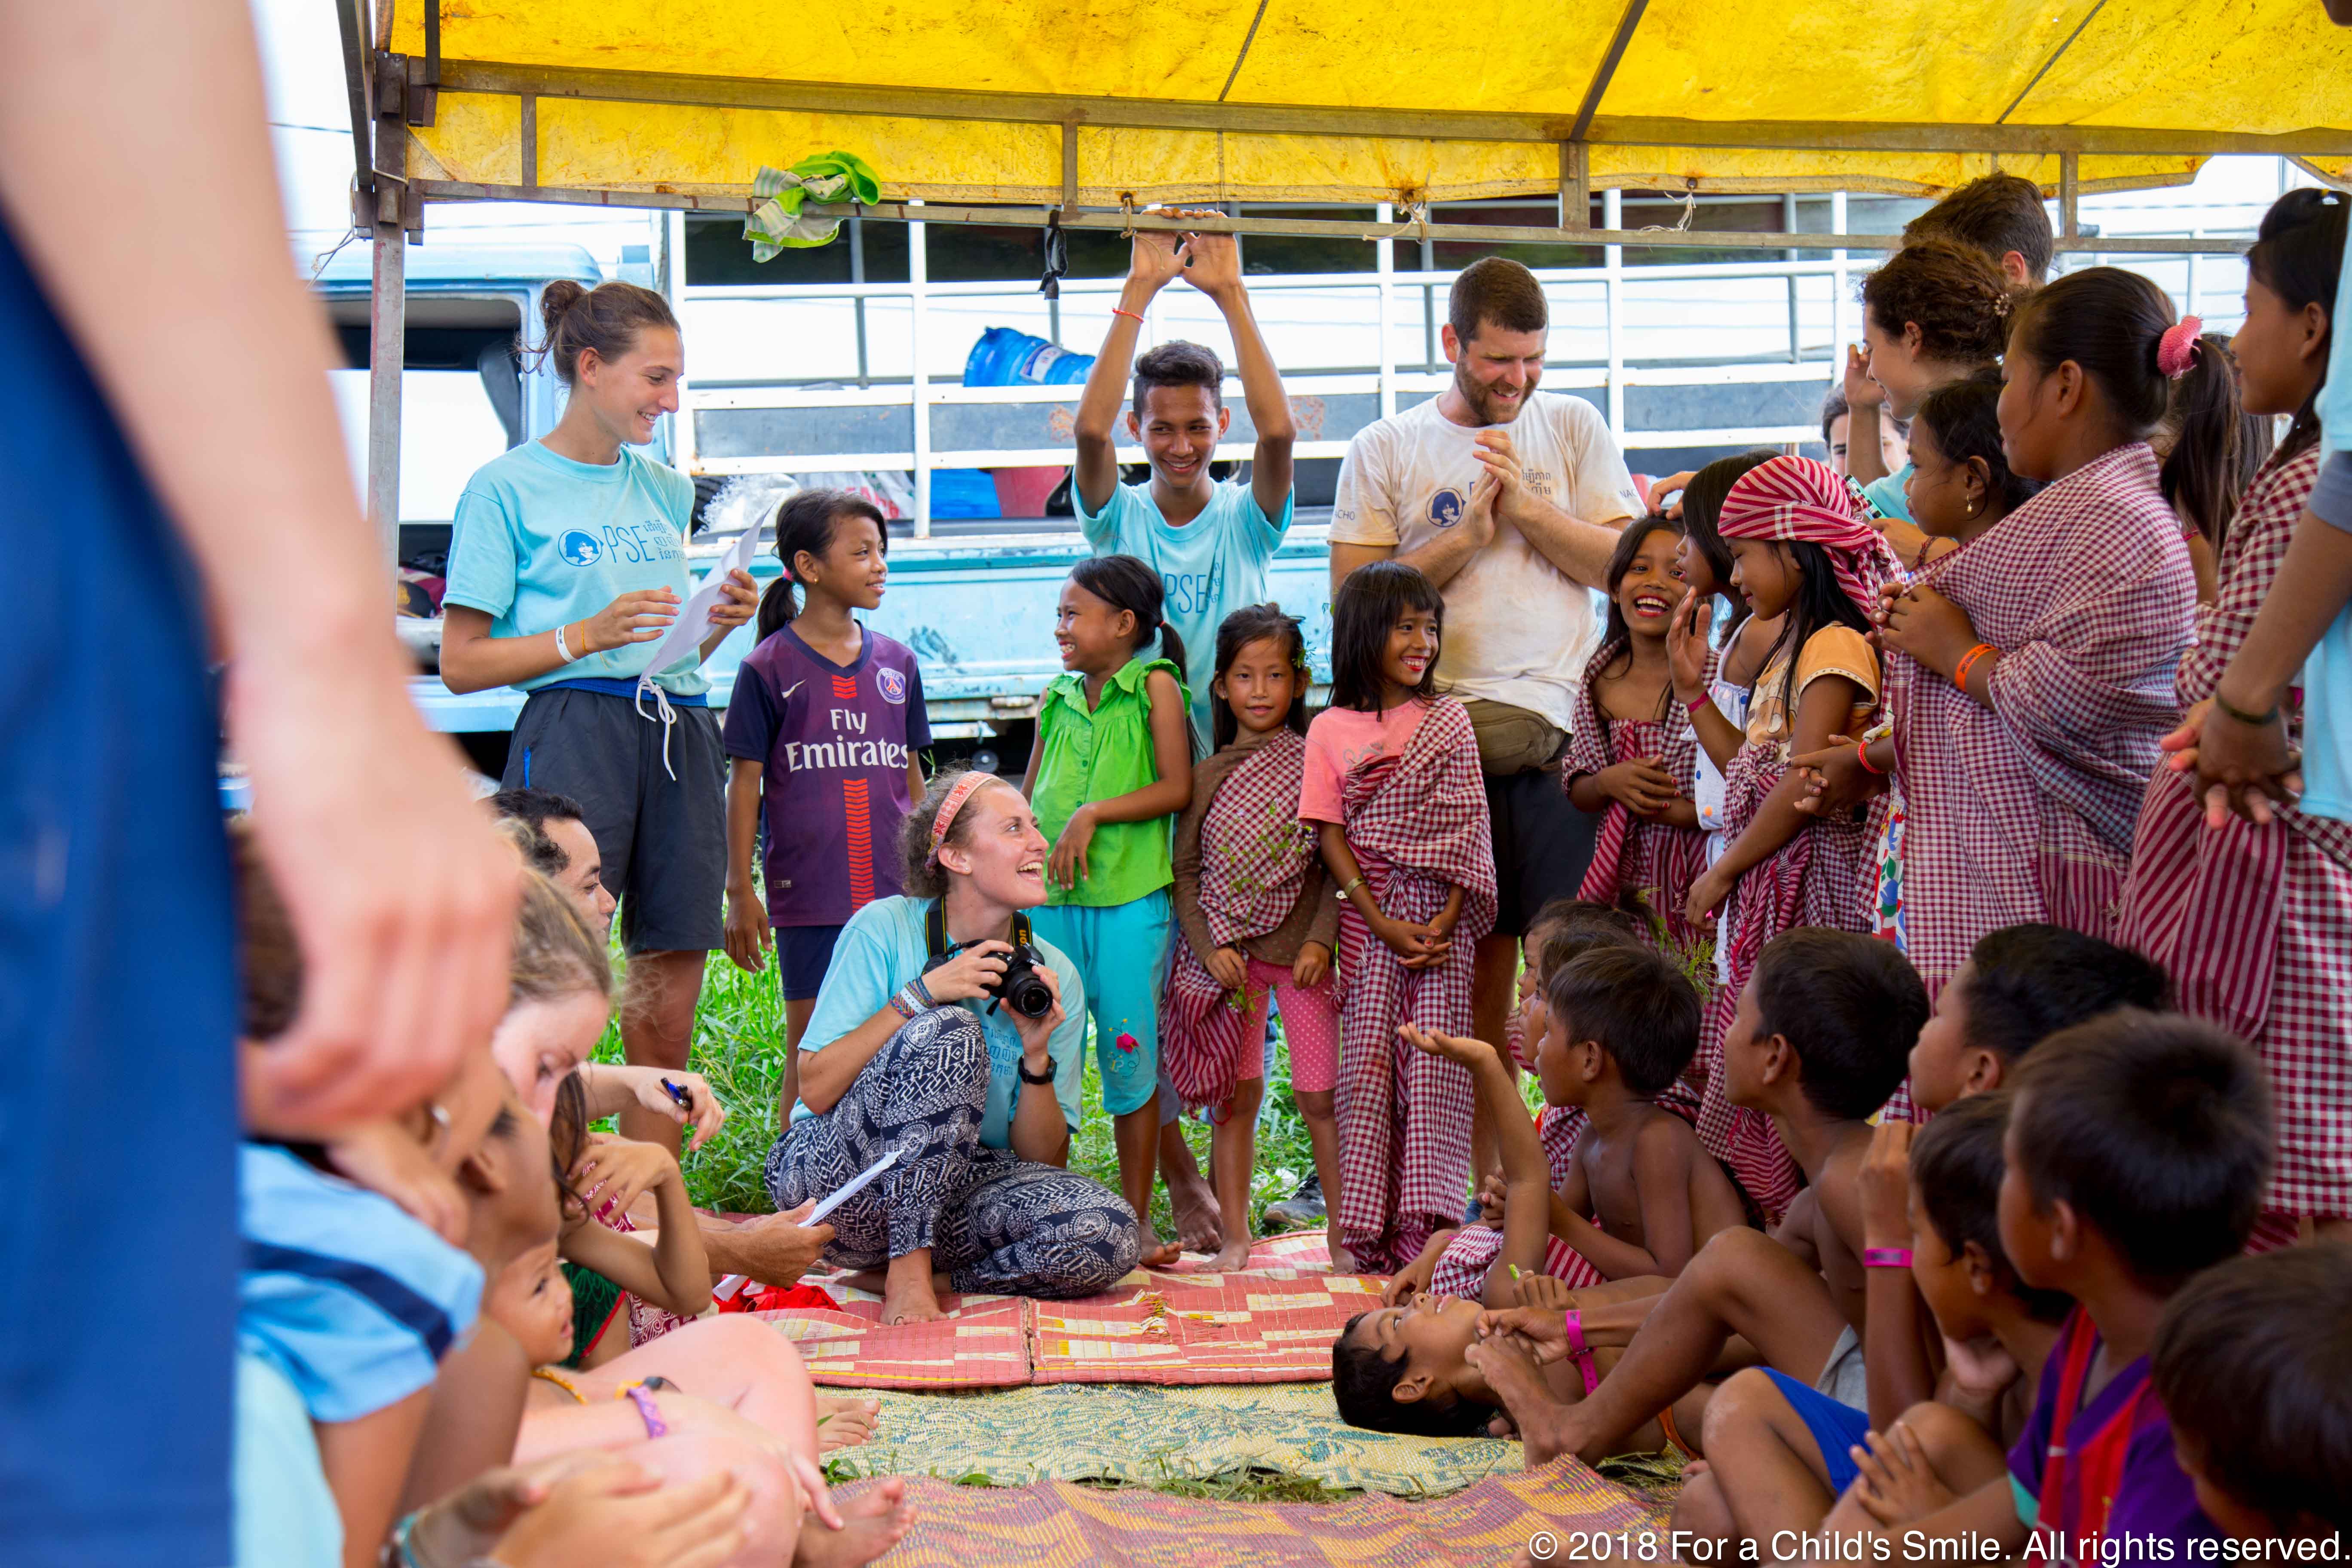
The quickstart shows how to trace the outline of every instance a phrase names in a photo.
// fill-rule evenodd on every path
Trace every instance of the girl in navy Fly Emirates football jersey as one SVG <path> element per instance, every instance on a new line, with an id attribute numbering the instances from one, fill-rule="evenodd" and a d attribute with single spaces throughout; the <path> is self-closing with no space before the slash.
<path id="1" fill-rule="evenodd" d="M 898 823 L 922 797 L 917 752 L 931 726 L 915 651 L 851 614 L 880 607 L 889 581 L 882 510 L 854 491 L 804 489 L 776 508 L 776 557 L 783 576 L 760 597 L 760 646 L 727 703 L 727 957 L 760 973 L 776 947 L 790 1107 L 833 938 L 901 891 Z M 753 870 L 762 813 L 764 903 Z"/>

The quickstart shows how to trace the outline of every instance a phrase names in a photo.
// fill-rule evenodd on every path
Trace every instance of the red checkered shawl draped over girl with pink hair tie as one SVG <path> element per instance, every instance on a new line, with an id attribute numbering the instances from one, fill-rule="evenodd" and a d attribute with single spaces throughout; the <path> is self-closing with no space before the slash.
<path id="1" fill-rule="evenodd" d="M 2114 933 L 2157 741 L 2180 717 L 2197 581 L 2140 442 L 2058 480 L 1924 581 L 2002 651 L 1992 708 L 1886 658 L 1905 950 L 1933 994 L 1987 931 Z"/>

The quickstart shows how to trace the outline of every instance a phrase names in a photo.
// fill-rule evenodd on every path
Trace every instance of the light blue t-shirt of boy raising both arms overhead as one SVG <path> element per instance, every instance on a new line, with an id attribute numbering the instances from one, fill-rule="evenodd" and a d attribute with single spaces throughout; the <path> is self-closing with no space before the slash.
<path id="1" fill-rule="evenodd" d="M 1249 484 L 1228 480 L 1185 527 L 1169 524 L 1152 487 L 1122 484 L 1110 505 L 1087 510 L 1070 489 L 1077 522 L 1096 555 L 1134 555 L 1160 574 L 1167 618 L 1183 637 L 1183 684 L 1192 691 L 1192 726 L 1209 743 L 1209 682 L 1216 677 L 1216 628 L 1244 604 L 1265 604 L 1265 564 L 1291 531 L 1298 491 L 1282 496 L 1282 517 L 1268 517 Z"/>

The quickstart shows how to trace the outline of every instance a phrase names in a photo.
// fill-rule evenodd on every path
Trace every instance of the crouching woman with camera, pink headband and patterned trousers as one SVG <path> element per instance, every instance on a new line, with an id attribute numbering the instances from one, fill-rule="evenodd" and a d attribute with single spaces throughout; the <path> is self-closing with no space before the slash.
<path id="1" fill-rule="evenodd" d="M 993 773 L 931 780 L 901 835 L 908 898 L 849 917 L 800 1039 L 800 1103 L 767 1157 L 776 1208 L 837 1192 L 826 1262 L 887 1265 L 882 1321 L 955 1291 L 1094 1295 L 1136 1267 L 1136 1211 L 1063 1168 L 1087 1044 L 1077 969 L 1035 940 L 1047 842 Z"/>

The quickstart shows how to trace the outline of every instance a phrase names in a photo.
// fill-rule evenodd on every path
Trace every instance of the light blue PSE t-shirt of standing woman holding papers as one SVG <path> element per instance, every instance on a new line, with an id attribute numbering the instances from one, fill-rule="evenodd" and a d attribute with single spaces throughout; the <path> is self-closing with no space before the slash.
<path id="1" fill-rule="evenodd" d="M 449 604 L 489 616 L 492 637 L 532 637 L 595 616 L 623 592 L 668 588 L 684 604 L 694 480 L 621 447 L 619 463 L 574 463 L 546 442 L 522 442 L 482 463 L 456 501 Z M 564 679 L 637 679 L 654 642 L 633 642 L 515 682 L 536 691 Z M 696 656 L 654 677 L 670 696 L 710 682 Z"/>

